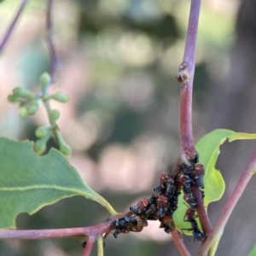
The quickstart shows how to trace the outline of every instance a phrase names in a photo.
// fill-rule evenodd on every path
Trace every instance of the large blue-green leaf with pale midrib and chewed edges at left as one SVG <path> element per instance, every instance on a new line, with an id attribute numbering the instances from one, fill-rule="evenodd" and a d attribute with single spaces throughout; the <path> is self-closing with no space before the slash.
<path id="1" fill-rule="evenodd" d="M 83 195 L 116 213 L 55 149 L 38 156 L 32 142 L 0 137 L 0 162 L 0 229 L 15 228 L 15 218 L 20 212 L 33 214 L 74 195 Z"/>

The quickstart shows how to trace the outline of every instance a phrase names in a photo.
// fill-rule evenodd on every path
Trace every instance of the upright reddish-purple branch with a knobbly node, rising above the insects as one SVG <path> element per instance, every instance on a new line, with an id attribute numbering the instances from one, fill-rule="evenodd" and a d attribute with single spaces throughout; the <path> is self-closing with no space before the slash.
<path id="1" fill-rule="evenodd" d="M 195 46 L 200 15 L 201 0 L 191 0 L 189 26 L 184 50 L 183 62 L 178 68 L 177 81 L 181 87 L 181 119 L 180 119 L 180 154 L 172 170 L 172 177 L 177 177 L 183 165 L 195 166 L 199 155 L 195 150 L 192 132 L 192 92 L 195 74 Z M 205 235 L 212 231 L 212 225 L 207 217 L 206 209 L 201 198 L 201 190 L 192 185 L 191 192 L 196 201 L 201 226 Z"/>

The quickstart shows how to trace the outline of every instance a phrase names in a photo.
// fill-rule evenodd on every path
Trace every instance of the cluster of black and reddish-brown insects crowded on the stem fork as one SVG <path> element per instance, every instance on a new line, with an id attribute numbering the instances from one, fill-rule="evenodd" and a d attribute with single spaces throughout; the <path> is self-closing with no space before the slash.
<path id="1" fill-rule="evenodd" d="M 130 213 L 124 217 L 114 220 L 111 225 L 116 227 L 113 236 L 120 233 L 140 232 L 148 225 L 148 220 L 160 220 L 160 229 L 164 229 L 170 234 L 173 228 L 173 213 L 177 210 L 178 195 L 183 190 L 183 199 L 186 201 L 188 210 L 184 221 L 191 224 L 187 229 L 193 232 L 195 240 L 204 241 L 205 236 L 198 229 L 195 221 L 196 199 L 191 191 L 191 186 L 204 189 L 205 169 L 201 164 L 194 166 L 183 165 L 181 172 L 176 177 L 171 177 L 167 173 L 160 175 L 160 185 L 153 190 L 159 195 L 152 195 L 149 199 L 143 199 L 135 207 L 130 207 Z M 202 199 L 204 191 L 201 190 Z"/>

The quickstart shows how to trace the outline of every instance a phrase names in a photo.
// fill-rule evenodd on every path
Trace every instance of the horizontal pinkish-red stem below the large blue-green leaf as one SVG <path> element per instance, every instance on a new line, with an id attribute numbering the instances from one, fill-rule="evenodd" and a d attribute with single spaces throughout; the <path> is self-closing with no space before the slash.
<path id="1" fill-rule="evenodd" d="M 72 229 L 57 229 L 57 230 L 0 230 L 0 239 L 53 239 L 53 238 L 67 238 L 73 236 L 91 236 L 98 237 L 104 233 L 114 230 L 115 227 L 110 224 L 117 218 L 125 217 L 130 212 L 119 213 L 112 218 L 109 218 L 102 224 L 97 224 L 90 227 L 72 228 Z"/>

